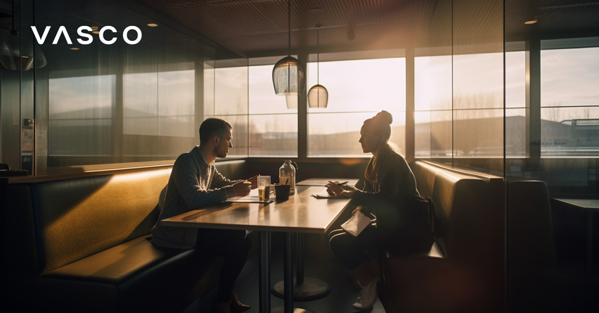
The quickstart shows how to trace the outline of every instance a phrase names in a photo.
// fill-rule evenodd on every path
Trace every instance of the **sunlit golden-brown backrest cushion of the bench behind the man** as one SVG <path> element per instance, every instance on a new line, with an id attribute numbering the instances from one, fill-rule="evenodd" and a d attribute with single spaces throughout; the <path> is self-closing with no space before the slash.
<path id="1" fill-rule="evenodd" d="M 150 233 L 171 168 L 31 183 L 40 273 Z"/>

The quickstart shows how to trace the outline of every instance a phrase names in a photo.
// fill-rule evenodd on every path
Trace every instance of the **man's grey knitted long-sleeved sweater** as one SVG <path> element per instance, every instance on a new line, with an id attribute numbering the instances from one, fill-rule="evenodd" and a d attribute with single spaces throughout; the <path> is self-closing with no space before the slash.
<path id="1" fill-rule="evenodd" d="M 181 154 L 173 165 L 164 205 L 152 228 L 152 244 L 180 249 L 195 247 L 197 228 L 162 226 L 160 221 L 233 197 L 231 185 L 237 182 L 223 177 L 214 162 L 208 165 L 198 146 Z"/>

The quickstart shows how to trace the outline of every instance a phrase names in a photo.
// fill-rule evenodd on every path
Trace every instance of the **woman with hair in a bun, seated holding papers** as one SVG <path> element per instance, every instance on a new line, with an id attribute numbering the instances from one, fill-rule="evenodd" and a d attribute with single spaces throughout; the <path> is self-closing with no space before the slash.
<path id="1" fill-rule="evenodd" d="M 357 206 L 352 215 L 361 211 L 366 216 L 376 215 L 372 223 L 353 237 L 343 229 L 329 235 L 333 253 L 352 272 L 362 286 L 353 307 L 372 308 L 377 299 L 376 284 L 380 269 L 368 256 L 368 250 L 387 248 L 395 254 L 428 251 L 434 238 L 428 223 L 428 202 L 420 197 L 416 179 L 406 159 L 397 153 L 390 142 L 393 117 L 381 111 L 364 121 L 360 130 L 360 144 L 364 153 L 372 153 L 368 162 L 362 189 L 335 183 L 326 185 L 331 195 L 351 197 Z"/>

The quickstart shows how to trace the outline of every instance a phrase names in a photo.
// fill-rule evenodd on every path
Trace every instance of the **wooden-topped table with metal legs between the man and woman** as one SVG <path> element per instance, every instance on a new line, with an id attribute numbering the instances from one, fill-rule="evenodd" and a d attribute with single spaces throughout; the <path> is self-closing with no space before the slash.
<path id="1" fill-rule="evenodd" d="M 312 193 L 322 186 L 296 186 L 295 195 L 286 201 L 271 203 L 221 202 L 189 211 L 161 221 L 165 226 L 217 229 L 246 229 L 258 231 L 258 260 L 260 264 L 260 312 L 270 313 L 270 232 L 284 232 L 285 313 L 294 312 L 292 233 L 328 232 L 349 199 L 316 199 Z M 308 312 L 304 310 L 304 312 Z"/>

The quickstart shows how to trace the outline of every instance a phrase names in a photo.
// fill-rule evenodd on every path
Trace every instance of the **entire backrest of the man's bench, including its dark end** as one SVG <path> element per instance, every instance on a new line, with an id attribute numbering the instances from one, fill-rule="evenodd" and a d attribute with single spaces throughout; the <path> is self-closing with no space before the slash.
<path id="1" fill-rule="evenodd" d="M 243 160 L 217 162 L 225 177 L 243 176 Z M 40 178 L 9 184 L 2 211 L 6 268 L 37 276 L 147 235 L 172 166 L 116 174 Z M 113 171 L 114 172 L 114 171 Z"/>

